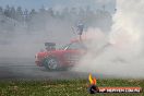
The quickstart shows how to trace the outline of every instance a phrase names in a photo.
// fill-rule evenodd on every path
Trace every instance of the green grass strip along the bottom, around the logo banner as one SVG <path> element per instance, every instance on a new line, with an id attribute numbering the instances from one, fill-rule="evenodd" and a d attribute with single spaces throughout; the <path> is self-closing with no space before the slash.
<path id="1" fill-rule="evenodd" d="M 87 80 L 0 81 L 0 96 L 144 96 L 140 94 L 95 94 Z M 144 80 L 97 80 L 98 86 L 141 86 Z"/>

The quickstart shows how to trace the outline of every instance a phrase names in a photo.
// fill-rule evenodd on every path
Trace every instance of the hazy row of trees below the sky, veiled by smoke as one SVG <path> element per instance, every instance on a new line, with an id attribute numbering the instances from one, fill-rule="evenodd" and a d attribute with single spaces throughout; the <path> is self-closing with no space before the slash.
<path id="1" fill-rule="evenodd" d="M 33 23 L 45 23 L 46 20 L 50 19 L 69 21 L 72 24 L 82 20 L 87 26 L 96 26 L 101 29 L 109 29 L 111 26 L 111 14 L 103 8 L 97 10 L 92 10 L 89 7 L 64 8 L 56 11 L 53 8 L 45 9 L 41 7 L 39 10 L 23 10 L 22 7 L 14 8 L 7 5 L 5 8 L 0 7 L 0 15 L 20 23 L 25 23 L 28 28 L 32 27 L 31 25 L 35 27 Z M 38 19 L 40 19 L 40 21 L 35 22 Z"/>

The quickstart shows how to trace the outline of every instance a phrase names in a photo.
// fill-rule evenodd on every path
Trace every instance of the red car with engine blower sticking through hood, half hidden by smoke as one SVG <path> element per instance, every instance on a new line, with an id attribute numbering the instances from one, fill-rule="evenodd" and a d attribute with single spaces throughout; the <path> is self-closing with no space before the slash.
<path id="1" fill-rule="evenodd" d="M 35 63 L 48 70 L 69 68 L 77 63 L 86 47 L 80 40 L 73 40 L 63 48 L 56 50 L 53 43 L 46 43 L 46 51 L 35 56 Z"/>

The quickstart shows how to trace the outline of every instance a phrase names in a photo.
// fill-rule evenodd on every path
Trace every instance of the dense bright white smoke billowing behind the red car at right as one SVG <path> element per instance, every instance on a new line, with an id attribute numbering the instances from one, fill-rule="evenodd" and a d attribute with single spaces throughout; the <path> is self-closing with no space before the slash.
<path id="1" fill-rule="evenodd" d="M 74 70 L 112 77 L 144 77 L 143 12 L 143 0 L 117 0 L 111 32 L 107 35 L 93 31 L 104 36 L 87 45 L 89 52 Z"/>

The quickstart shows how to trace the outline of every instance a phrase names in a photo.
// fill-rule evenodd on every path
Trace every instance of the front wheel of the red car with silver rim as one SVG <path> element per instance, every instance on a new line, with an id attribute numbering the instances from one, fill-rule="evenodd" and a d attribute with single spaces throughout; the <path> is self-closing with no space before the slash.
<path id="1" fill-rule="evenodd" d="M 46 58 L 44 60 L 44 67 L 48 70 L 58 70 L 59 61 L 56 58 Z"/>

